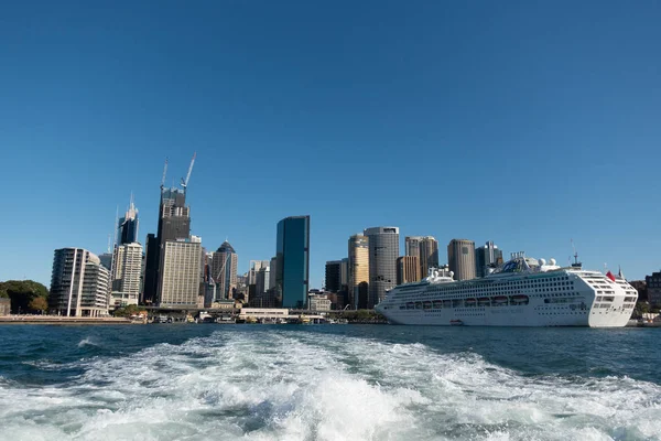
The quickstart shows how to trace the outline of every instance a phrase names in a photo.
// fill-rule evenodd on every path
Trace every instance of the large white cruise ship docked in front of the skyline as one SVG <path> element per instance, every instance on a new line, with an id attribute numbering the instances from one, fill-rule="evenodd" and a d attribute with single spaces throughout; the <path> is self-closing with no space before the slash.
<path id="1" fill-rule="evenodd" d="M 638 291 L 610 272 L 518 254 L 481 279 L 430 271 L 388 291 L 375 309 L 393 324 L 615 327 L 627 324 L 637 299 Z"/>

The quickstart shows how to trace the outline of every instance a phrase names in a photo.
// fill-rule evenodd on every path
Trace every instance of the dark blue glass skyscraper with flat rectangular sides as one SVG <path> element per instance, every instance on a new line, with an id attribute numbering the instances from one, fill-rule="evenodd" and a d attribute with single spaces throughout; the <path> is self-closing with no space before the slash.
<path id="1" fill-rule="evenodd" d="M 310 280 L 310 216 L 285 217 L 278 223 L 277 236 L 277 297 L 282 308 L 305 308 Z"/>

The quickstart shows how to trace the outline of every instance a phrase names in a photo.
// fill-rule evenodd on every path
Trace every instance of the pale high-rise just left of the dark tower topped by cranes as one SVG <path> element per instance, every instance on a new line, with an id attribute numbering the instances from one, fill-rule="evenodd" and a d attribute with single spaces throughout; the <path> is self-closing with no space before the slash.
<path id="1" fill-rule="evenodd" d="M 115 305 L 138 304 L 142 272 L 142 245 L 122 244 L 115 248 L 112 301 Z"/>

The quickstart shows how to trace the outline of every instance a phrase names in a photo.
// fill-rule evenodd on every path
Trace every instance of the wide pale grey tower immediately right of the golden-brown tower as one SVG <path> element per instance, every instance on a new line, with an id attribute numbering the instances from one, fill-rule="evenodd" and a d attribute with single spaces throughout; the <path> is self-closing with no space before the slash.
<path id="1" fill-rule="evenodd" d="M 386 291 L 397 286 L 399 228 L 373 227 L 365 230 L 369 240 L 369 298 L 372 309 L 386 298 Z"/>

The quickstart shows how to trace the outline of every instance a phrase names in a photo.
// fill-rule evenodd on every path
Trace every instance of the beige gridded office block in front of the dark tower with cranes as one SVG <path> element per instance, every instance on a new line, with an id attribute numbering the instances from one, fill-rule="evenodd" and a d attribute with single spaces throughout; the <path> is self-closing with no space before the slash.
<path id="1" fill-rule="evenodd" d="M 165 241 L 159 287 L 161 306 L 198 304 L 201 259 L 201 243 L 189 239 Z"/>

